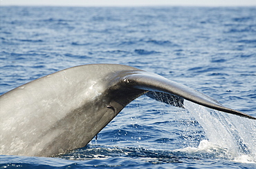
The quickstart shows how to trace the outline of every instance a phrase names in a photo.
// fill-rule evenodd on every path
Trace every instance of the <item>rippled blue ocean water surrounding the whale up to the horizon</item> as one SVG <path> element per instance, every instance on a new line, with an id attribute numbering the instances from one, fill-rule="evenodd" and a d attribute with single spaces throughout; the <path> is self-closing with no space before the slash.
<path id="1" fill-rule="evenodd" d="M 64 68 L 133 66 L 256 117 L 256 7 L 1 6 L 0 94 Z M 88 146 L 0 168 L 256 168 L 256 121 L 142 96 Z"/>

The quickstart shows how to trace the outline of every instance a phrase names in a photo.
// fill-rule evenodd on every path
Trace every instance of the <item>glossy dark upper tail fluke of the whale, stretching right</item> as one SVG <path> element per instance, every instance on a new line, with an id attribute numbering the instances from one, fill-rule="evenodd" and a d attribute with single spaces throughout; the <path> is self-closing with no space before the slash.
<path id="1" fill-rule="evenodd" d="M 125 81 L 125 83 L 127 83 L 128 86 L 131 86 L 133 88 L 165 92 L 167 94 L 178 96 L 183 99 L 192 101 L 194 103 L 198 103 L 199 105 L 208 108 L 212 108 L 222 112 L 228 112 L 230 114 L 246 117 L 248 119 L 256 119 L 255 117 L 246 115 L 243 112 L 226 108 L 222 106 L 218 101 L 211 99 L 210 97 L 202 94 L 201 92 L 184 86 L 181 83 L 176 83 L 175 81 L 165 79 L 164 77 L 161 77 L 158 74 L 153 74 L 150 72 L 138 72 L 123 77 L 123 81 Z M 173 103 L 172 105 L 175 106 L 175 103 Z"/>

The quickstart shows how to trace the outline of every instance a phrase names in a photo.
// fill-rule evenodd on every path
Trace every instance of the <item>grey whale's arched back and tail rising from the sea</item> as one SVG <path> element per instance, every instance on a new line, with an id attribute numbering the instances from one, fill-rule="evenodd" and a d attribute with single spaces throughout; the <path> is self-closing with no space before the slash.
<path id="1" fill-rule="evenodd" d="M 0 155 L 51 157 L 86 146 L 128 103 L 183 99 L 255 119 L 158 74 L 118 64 L 68 68 L 1 95 Z"/>

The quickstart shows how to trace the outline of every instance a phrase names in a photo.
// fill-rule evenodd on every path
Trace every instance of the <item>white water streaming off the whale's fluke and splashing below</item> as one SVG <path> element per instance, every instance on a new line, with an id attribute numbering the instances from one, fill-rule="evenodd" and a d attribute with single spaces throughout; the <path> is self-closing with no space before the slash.
<path id="1" fill-rule="evenodd" d="M 209 141 L 201 141 L 198 148 L 190 151 L 218 148 L 225 150 L 222 154 L 232 161 L 256 163 L 256 121 L 210 110 L 190 101 L 185 101 L 184 106 L 202 126 Z"/>

